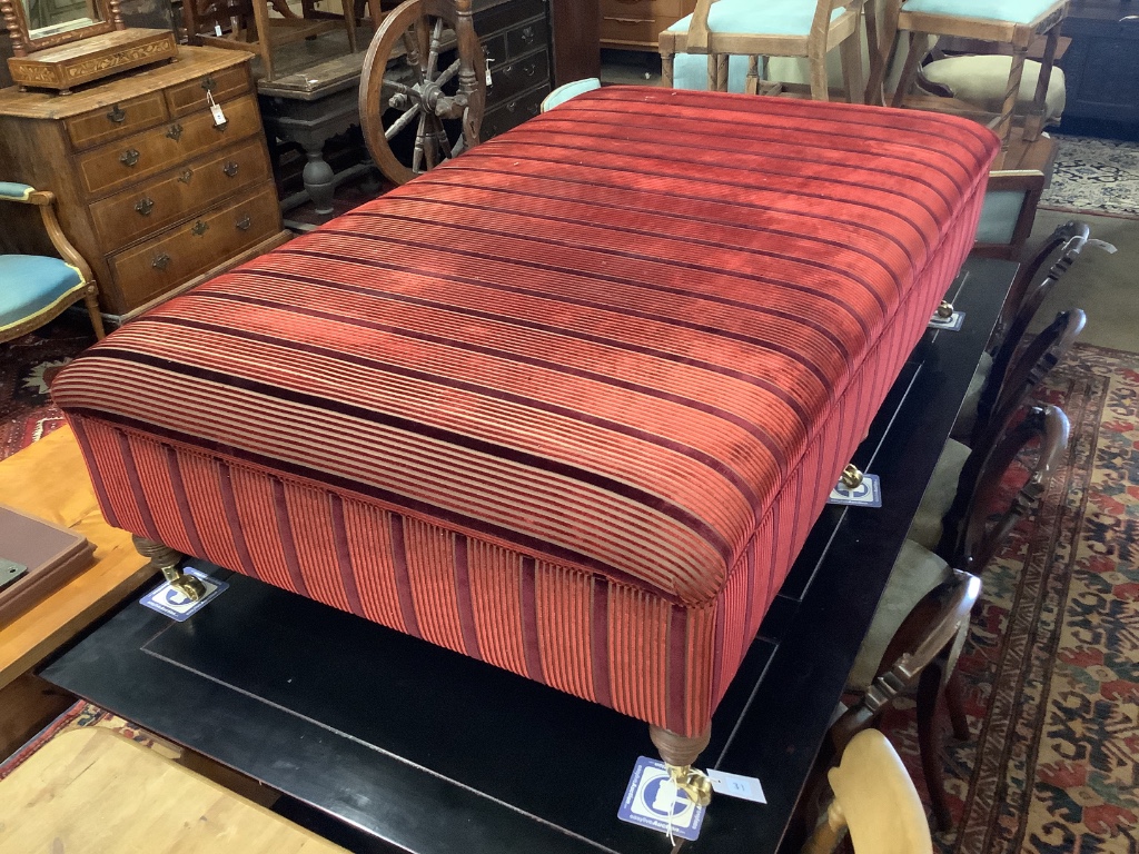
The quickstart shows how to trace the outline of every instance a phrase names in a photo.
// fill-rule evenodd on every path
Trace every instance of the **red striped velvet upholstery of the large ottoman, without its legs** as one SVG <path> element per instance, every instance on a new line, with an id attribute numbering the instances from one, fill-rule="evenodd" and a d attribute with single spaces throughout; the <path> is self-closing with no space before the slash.
<path id="1" fill-rule="evenodd" d="M 54 394 L 115 525 L 703 730 L 972 244 L 995 138 L 605 89 Z"/>

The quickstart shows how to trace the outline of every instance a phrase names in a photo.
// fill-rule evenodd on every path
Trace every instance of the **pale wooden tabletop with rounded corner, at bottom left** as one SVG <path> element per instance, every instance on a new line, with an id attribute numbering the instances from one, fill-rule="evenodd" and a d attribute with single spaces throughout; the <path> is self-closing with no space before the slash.
<path id="1" fill-rule="evenodd" d="M 334 854 L 344 848 L 107 730 L 64 732 L 0 782 L 10 851 Z"/>

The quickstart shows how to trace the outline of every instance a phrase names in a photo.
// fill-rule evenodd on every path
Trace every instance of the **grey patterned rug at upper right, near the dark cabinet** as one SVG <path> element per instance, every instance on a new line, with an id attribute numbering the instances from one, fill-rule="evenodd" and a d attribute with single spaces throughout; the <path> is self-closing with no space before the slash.
<path id="1" fill-rule="evenodd" d="M 1139 142 L 1063 137 L 1040 207 L 1139 219 Z"/>

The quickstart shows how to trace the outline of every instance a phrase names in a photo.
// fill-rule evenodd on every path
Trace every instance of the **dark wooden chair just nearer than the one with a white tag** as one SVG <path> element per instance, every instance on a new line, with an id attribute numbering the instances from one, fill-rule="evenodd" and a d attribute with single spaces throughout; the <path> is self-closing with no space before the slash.
<path id="1" fill-rule="evenodd" d="M 974 494 L 981 467 L 1013 425 L 1029 395 L 1071 350 L 1083 325 L 1084 314 L 1079 309 L 1062 312 L 1017 355 L 1013 367 L 1003 371 L 1003 380 L 994 378 L 993 391 L 985 396 L 984 419 L 976 424 L 969 443 L 956 438 L 945 443 L 907 533 L 910 540 L 945 559 L 957 552 L 957 535 L 947 539 L 947 532 L 960 531 L 965 514 L 961 502 Z"/>

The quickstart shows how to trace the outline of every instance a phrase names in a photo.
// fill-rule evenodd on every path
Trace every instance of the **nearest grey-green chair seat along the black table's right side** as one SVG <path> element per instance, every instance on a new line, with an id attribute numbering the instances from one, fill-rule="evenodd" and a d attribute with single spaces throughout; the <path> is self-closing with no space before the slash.
<path id="1" fill-rule="evenodd" d="M 865 692 L 874 682 L 878 665 L 902 622 L 926 593 L 951 575 L 949 564 L 924 545 L 907 540 L 890 572 L 890 581 L 874 613 L 874 621 L 859 648 L 846 688 Z"/>

